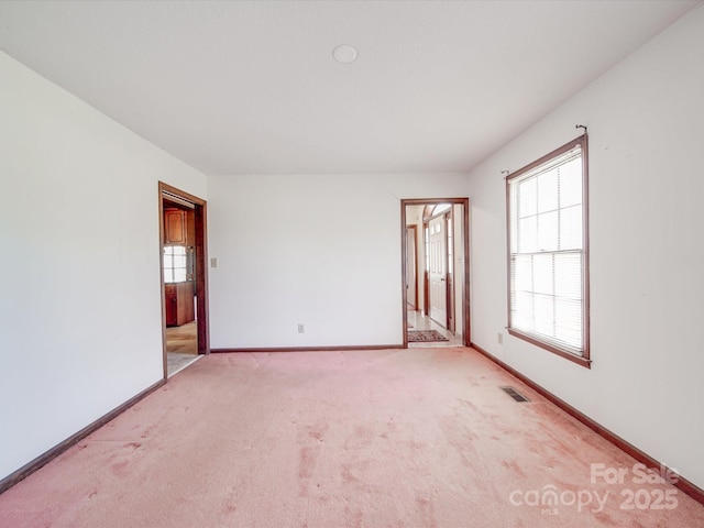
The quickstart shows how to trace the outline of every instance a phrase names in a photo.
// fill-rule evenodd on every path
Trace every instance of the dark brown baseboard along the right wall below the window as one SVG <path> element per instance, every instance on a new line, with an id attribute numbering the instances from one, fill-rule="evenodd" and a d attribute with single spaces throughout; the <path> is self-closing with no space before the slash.
<path id="1" fill-rule="evenodd" d="M 474 350 L 476 350 L 477 352 L 480 352 L 482 355 L 486 356 L 488 360 L 493 361 L 498 366 L 504 369 L 506 372 L 512 374 L 514 377 L 520 380 L 522 383 L 525 383 L 530 388 L 532 388 L 536 393 L 540 394 L 541 396 L 543 396 L 544 398 L 550 400 L 552 404 L 554 404 L 558 407 L 560 407 L 568 415 L 572 416 L 576 420 L 579 420 L 582 424 L 584 424 L 586 427 L 588 427 L 594 432 L 598 433 L 601 437 L 603 437 L 606 440 L 608 440 L 609 442 L 612 442 L 614 446 L 616 446 L 622 451 L 624 451 L 627 454 L 631 455 L 638 462 L 640 462 L 642 464 L 646 464 L 646 466 L 651 468 L 651 469 L 653 469 L 656 471 L 660 471 L 662 468 L 671 470 L 670 468 L 668 468 L 667 465 L 662 464 L 661 462 L 659 462 L 654 458 L 650 457 L 649 454 L 647 454 L 647 453 L 642 452 L 641 450 L 639 450 L 638 448 L 636 448 L 634 444 L 627 442 L 626 440 L 620 438 L 618 435 L 615 435 L 614 432 L 612 432 L 608 429 L 606 429 L 605 427 L 603 427 L 601 424 L 594 421 L 592 418 L 590 418 L 588 416 L 586 416 L 582 411 L 575 409 L 574 407 L 572 407 L 566 402 L 560 399 L 554 394 L 552 394 L 549 391 L 547 391 L 546 388 L 541 387 L 540 385 L 538 385 L 536 382 L 534 382 L 529 377 L 526 377 L 524 374 L 521 374 L 520 372 L 516 371 L 514 367 L 512 367 L 507 363 L 504 363 L 502 360 L 499 360 L 495 355 L 491 354 L 490 352 L 487 352 L 483 348 L 479 346 L 475 343 L 471 343 L 471 346 Z M 690 497 L 692 497 L 697 503 L 704 505 L 704 490 L 698 487 L 696 484 L 694 484 L 694 483 L 688 481 L 686 479 L 683 479 L 682 476 L 678 475 L 678 482 L 674 483 L 674 486 L 678 487 L 679 490 L 681 490 L 682 492 L 686 493 Z"/>

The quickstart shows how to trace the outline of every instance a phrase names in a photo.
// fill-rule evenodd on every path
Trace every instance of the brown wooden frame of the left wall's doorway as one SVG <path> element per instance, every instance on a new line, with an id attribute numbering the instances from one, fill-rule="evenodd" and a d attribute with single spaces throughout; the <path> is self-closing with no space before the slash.
<path id="1" fill-rule="evenodd" d="M 160 277 L 162 292 L 162 344 L 164 354 L 164 380 L 167 378 L 166 362 L 166 306 L 164 301 L 164 194 L 194 205 L 196 228 L 196 328 L 198 353 L 210 353 L 210 324 L 208 320 L 208 204 L 197 196 L 185 193 L 163 182 L 158 183 L 158 233 L 160 233 Z"/>

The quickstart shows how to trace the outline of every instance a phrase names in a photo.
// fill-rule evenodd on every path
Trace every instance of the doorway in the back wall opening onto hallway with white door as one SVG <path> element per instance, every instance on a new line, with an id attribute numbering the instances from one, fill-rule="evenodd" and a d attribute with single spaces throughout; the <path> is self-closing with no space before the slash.
<path id="1" fill-rule="evenodd" d="M 470 326 L 470 253 L 469 199 L 431 198 L 402 200 L 403 328 L 404 348 L 414 334 L 435 329 L 447 342 L 435 345 L 464 345 L 471 342 Z M 414 228 L 419 233 L 414 270 L 409 253 Z M 414 278 L 415 276 L 415 278 Z M 409 286 L 415 280 L 415 286 Z M 410 294 L 419 297 L 415 301 Z M 415 308 L 415 309 L 414 309 Z M 409 319 L 411 322 L 409 323 Z M 414 327 L 414 328 L 410 328 Z M 414 345 L 416 345 L 416 338 Z M 426 344 L 426 343 L 422 343 Z"/>

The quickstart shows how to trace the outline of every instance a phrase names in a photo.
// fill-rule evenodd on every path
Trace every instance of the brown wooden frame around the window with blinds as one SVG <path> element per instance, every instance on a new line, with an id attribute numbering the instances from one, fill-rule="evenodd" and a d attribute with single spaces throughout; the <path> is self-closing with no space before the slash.
<path id="1" fill-rule="evenodd" d="M 512 197 L 510 184 L 513 180 L 530 173 L 535 168 L 557 158 L 575 146 L 582 150 L 582 355 L 578 355 L 566 349 L 560 348 L 552 342 L 540 339 L 539 336 L 527 333 L 512 327 Z M 552 352 L 561 358 L 572 361 L 586 369 L 591 369 L 591 349 L 590 349 L 590 238 L 588 238 L 588 139 L 587 134 L 583 134 L 569 143 L 556 148 L 525 167 L 506 176 L 506 267 L 507 267 L 507 315 L 508 324 L 506 330 L 513 337 L 527 341 L 536 346 Z"/>

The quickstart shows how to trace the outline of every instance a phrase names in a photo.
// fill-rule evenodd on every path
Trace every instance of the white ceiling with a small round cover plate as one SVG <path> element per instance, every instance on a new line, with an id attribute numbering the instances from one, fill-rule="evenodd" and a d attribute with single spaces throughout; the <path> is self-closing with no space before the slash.
<path id="1" fill-rule="evenodd" d="M 466 172 L 697 3 L 1 0 L 0 48 L 206 174 Z"/>

